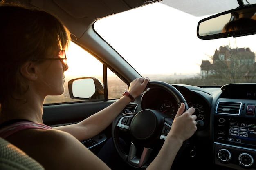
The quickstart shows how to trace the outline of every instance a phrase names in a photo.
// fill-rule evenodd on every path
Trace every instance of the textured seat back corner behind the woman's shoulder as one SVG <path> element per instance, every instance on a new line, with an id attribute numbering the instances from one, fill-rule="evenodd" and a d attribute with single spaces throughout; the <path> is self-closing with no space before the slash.
<path id="1" fill-rule="evenodd" d="M 25 152 L 0 138 L 0 170 L 45 170 Z"/>

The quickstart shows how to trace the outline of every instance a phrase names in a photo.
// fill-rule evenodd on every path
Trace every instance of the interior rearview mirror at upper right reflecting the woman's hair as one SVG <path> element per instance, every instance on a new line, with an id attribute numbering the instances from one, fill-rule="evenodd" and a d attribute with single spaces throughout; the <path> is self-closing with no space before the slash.
<path id="1" fill-rule="evenodd" d="M 219 13 L 198 22 L 203 40 L 256 34 L 256 4 Z"/>

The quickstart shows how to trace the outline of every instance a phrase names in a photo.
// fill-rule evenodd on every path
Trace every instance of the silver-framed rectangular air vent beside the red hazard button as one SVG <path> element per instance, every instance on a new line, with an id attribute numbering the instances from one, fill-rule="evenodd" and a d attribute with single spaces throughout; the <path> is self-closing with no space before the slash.
<path id="1" fill-rule="evenodd" d="M 216 113 L 239 115 L 241 102 L 218 102 Z"/>

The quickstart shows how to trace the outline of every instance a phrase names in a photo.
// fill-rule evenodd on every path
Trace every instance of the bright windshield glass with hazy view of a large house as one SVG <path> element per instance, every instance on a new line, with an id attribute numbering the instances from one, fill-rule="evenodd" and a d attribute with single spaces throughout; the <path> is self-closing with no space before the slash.
<path id="1" fill-rule="evenodd" d="M 256 35 L 200 40 L 195 17 L 161 3 L 103 18 L 94 28 L 143 77 L 222 86 L 256 82 Z"/>

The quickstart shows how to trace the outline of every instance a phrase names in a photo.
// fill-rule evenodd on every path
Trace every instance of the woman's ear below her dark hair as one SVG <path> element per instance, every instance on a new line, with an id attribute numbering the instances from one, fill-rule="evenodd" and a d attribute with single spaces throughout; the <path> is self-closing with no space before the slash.
<path id="1" fill-rule="evenodd" d="M 25 62 L 20 67 L 20 73 L 27 79 L 34 81 L 37 79 L 37 69 L 33 62 Z"/>

